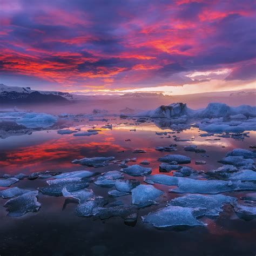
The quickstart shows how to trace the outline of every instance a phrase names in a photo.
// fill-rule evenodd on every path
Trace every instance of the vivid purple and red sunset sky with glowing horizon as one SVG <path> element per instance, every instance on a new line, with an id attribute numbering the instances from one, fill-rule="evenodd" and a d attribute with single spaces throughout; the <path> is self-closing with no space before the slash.
<path id="1" fill-rule="evenodd" d="M 255 88 L 253 0 L 0 0 L 0 83 L 80 94 Z"/>

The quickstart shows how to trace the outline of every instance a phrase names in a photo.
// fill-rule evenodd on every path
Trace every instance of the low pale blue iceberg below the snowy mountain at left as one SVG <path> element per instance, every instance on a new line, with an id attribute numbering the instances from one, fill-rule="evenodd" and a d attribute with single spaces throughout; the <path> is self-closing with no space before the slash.
<path id="1" fill-rule="evenodd" d="M 57 122 L 58 118 L 45 113 L 25 113 L 16 123 L 22 124 L 27 128 L 46 128 Z"/>

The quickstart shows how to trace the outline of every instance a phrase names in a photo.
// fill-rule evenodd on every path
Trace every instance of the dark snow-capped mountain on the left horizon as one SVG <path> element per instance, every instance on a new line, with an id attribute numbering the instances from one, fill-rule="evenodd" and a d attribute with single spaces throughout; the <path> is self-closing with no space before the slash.
<path id="1" fill-rule="evenodd" d="M 0 84 L 1 103 L 42 103 L 66 102 L 72 100 L 73 95 L 68 92 L 37 91 L 30 87 L 6 86 Z"/>

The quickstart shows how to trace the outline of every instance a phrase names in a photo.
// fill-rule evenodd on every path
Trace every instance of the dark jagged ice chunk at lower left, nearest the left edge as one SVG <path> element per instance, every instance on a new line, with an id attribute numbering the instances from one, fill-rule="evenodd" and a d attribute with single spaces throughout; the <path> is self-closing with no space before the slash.
<path id="1" fill-rule="evenodd" d="M 4 207 L 9 212 L 7 215 L 19 217 L 27 212 L 38 212 L 41 204 L 37 201 L 37 195 L 38 191 L 31 191 L 6 201 Z"/>

